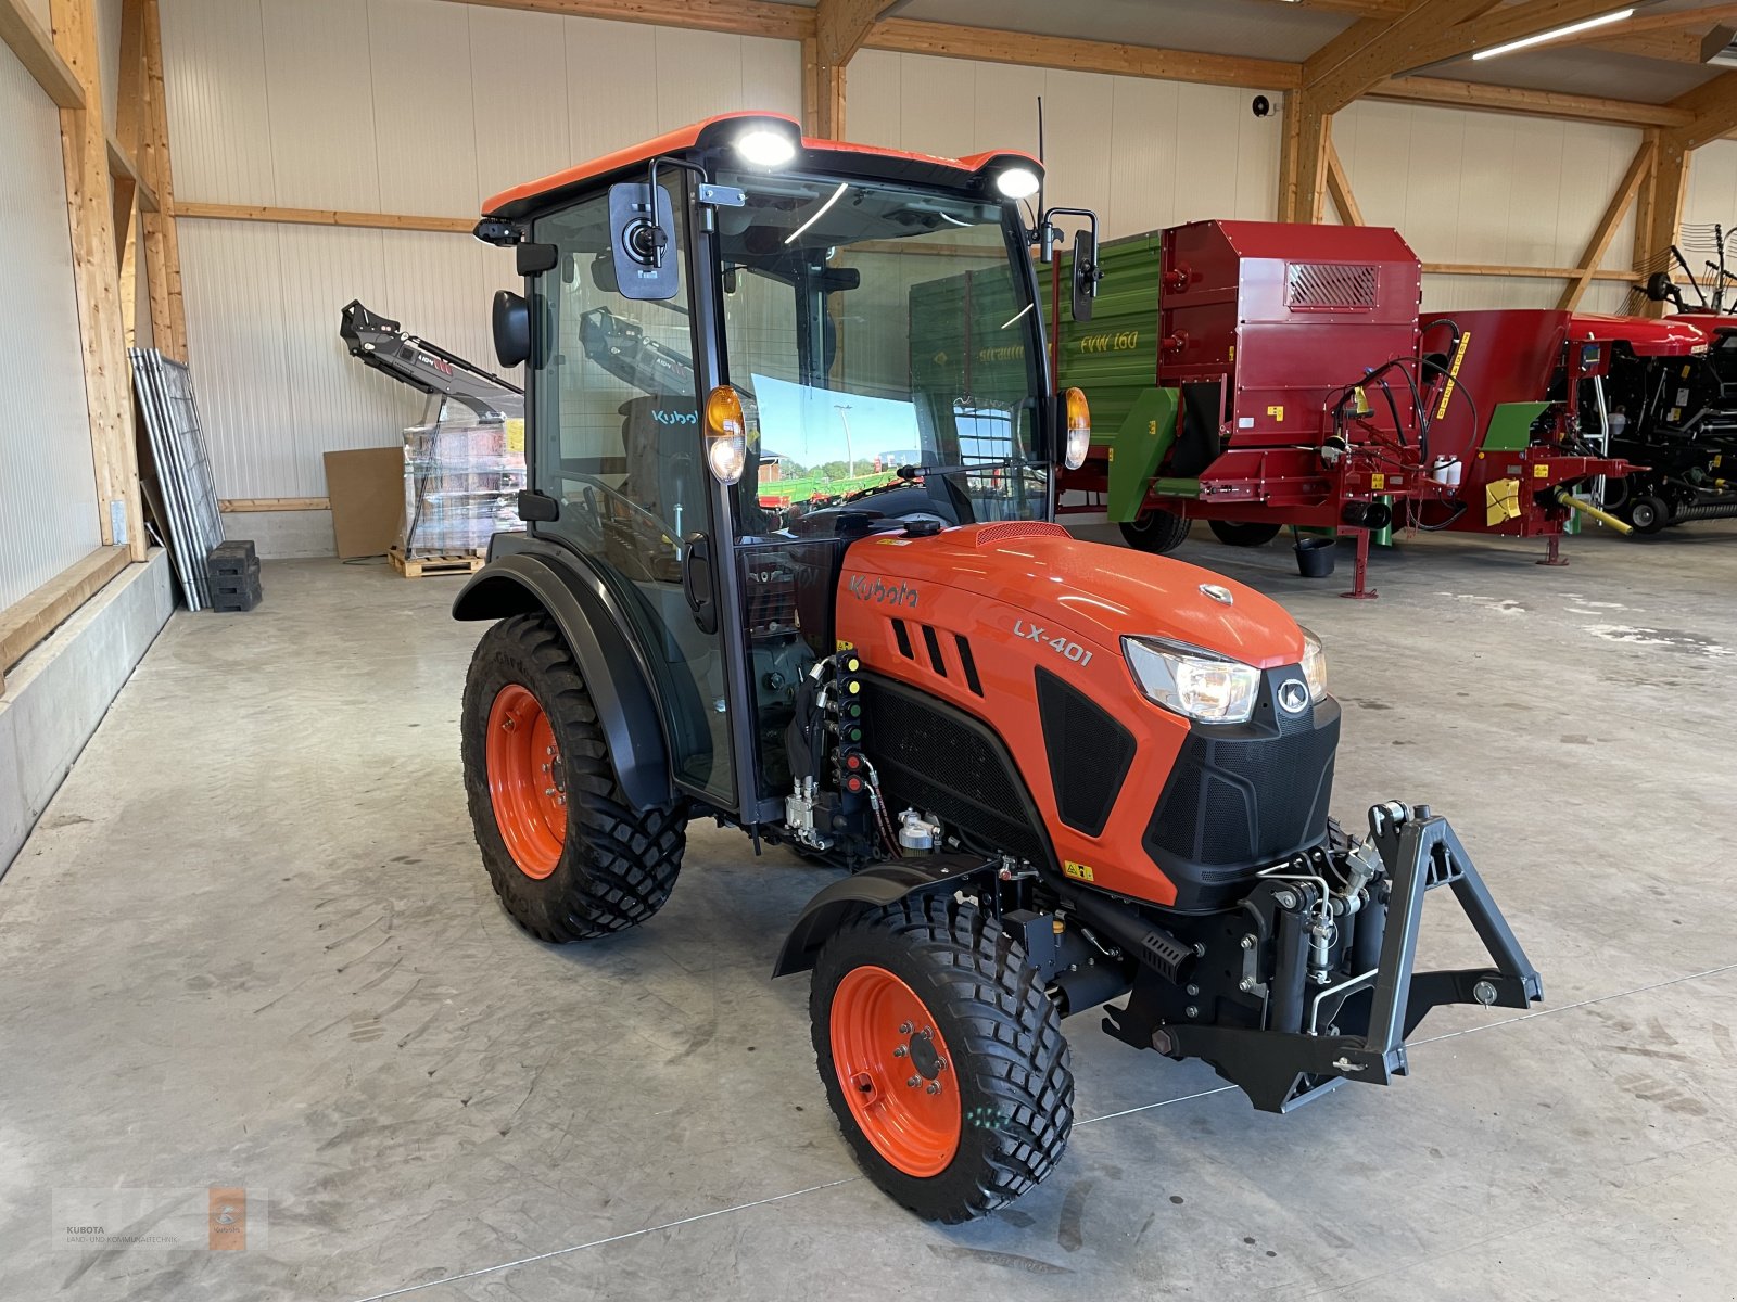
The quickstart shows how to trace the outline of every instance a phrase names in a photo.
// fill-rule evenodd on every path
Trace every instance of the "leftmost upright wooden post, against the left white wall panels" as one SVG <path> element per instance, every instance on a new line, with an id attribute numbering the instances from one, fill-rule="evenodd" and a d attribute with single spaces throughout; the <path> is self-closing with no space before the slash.
<path id="1" fill-rule="evenodd" d="M 54 49 L 78 78 L 85 95 L 83 108 L 61 109 L 61 160 L 66 172 L 99 528 L 104 545 L 125 538 L 132 559 L 142 561 L 148 540 L 132 436 L 132 375 L 120 309 L 120 259 L 115 253 L 94 0 L 52 0 L 49 16 Z"/>

